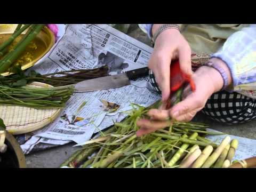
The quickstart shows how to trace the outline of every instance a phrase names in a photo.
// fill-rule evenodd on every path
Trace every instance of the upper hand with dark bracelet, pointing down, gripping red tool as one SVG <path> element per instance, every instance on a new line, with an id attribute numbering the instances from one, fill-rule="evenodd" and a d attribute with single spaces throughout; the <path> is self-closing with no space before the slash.
<path id="1" fill-rule="evenodd" d="M 153 25 L 153 35 L 162 24 Z M 179 59 L 183 73 L 191 76 L 191 49 L 177 29 L 166 29 L 156 39 L 154 51 L 149 59 L 148 67 L 153 71 L 156 82 L 162 91 L 163 103 L 170 97 L 170 65 Z"/>

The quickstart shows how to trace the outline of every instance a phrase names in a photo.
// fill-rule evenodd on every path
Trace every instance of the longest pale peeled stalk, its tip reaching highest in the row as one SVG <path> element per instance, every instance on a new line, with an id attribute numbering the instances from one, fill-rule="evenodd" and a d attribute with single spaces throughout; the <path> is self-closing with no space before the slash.
<path id="1" fill-rule="evenodd" d="M 225 149 L 227 147 L 229 142 L 230 142 L 230 137 L 227 136 L 225 139 L 222 140 L 221 144 L 213 152 L 213 154 L 206 159 L 206 161 L 203 164 L 202 168 L 209 168 L 210 166 L 212 166 L 215 163 L 215 161 L 217 161 L 217 159 L 219 158 L 219 156 L 222 153 L 223 149 Z"/>

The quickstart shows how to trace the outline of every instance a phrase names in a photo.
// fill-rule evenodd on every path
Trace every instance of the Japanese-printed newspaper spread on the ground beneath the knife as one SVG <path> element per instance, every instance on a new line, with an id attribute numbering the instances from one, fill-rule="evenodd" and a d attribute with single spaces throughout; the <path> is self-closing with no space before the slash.
<path id="1" fill-rule="evenodd" d="M 47 57 L 30 70 L 47 74 L 107 65 L 109 74 L 115 75 L 147 66 L 152 51 L 150 46 L 106 24 L 67 25 Z M 132 109 L 131 103 L 146 107 L 158 99 L 148 77 L 118 89 L 75 93 L 61 115 L 44 129 L 35 131 L 21 148 L 28 154 L 38 143 L 83 143 L 93 133 L 122 121 L 125 115 L 121 112 Z"/>

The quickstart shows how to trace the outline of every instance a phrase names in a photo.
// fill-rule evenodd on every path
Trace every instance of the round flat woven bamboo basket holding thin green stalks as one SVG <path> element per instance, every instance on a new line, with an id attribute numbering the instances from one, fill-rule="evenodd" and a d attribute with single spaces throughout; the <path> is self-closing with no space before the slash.
<path id="1" fill-rule="evenodd" d="M 31 83 L 30 86 L 52 87 L 51 85 L 39 82 Z M 34 109 L 0 105 L 0 118 L 3 119 L 6 130 L 14 135 L 41 129 L 53 122 L 60 112 L 61 109 Z"/>

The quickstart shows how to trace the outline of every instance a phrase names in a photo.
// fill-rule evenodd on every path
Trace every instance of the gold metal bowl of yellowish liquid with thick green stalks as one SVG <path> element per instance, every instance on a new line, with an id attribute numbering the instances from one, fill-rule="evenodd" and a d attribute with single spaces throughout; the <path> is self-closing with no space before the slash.
<path id="1" fill-rule="evenodd" d="M 13 34 L 17 25 L 18 24 L 0 24 L 0 44 L 3 43 L 8 36 Z M 26 31 L 27 30 L 25 30 L 22 34 L 25 34 Z M 29 51 L 29 53 L 31 53 L 33 56 L 33 59 L 21 63 L 22 70 L 33 67 L 39 59 L 44 57 L 44 55 L 53 47 L 55 43 L 55 37 L 52 31 L 45 26 L 35 38 L 35 42 L 38 46 L 38 49 Z M 11 75 L 11 73 L 5 72 L 0 75 L 8 76 Z"/>

